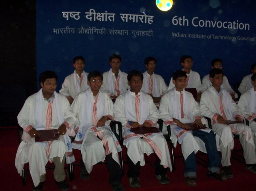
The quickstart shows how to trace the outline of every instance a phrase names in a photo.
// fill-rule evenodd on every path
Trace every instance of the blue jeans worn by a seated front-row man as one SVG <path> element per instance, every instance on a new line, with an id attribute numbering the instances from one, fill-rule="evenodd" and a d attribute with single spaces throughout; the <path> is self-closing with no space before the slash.
<path id="1" fill-rule="evenodd" d="M 204 144 L 208 154 L 208 170 L 212 173 L 220 171 L 220 156 L 216 147 L 215 134 L 213 131 L 210 133 L 195 130 L 192 131 L 193 136 L 200 138 Z M 196 158 L 195 152 L 188 155 L 185 163 L 185 177 L 196 177 Z"/>

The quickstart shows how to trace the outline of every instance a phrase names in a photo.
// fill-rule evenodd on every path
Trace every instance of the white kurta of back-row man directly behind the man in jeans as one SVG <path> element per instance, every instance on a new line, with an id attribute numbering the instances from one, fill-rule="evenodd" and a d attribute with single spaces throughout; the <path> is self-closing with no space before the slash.
<path id="1" fill-rule="evenodd" d="M 196 88 L 197 93 L 202 92 L 200 75 L 197 72 L 191 70 L 187 76 L 189 76 L 189 79 L 186 88 Z M 174 87 L 175 85 L 173 84 L 173 78 L 171 78 L 168 90 L 173 89 Z"/>

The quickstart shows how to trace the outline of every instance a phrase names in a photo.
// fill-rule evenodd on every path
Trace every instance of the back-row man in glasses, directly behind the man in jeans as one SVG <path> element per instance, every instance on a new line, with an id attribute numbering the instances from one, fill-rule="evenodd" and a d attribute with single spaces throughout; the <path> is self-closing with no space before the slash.
<path id="1" fill-rule="evenodd" d="M 196 88 L 196 91 L 197 91 L 196 101 L 200 101 L 201 93 L 202 93 L 202 84 L 201 84 L 200 75 L 197 72 L 191 70 L 193 67 L 193 63 L 194 63 L 193 59 L 189 55 L 184 55 L 180 57 L 180 65 L 183 67 L 182 70 L 185 71 L 188 76 L 187 85 L 185 88 Z M 171 78 L 168 90 L 173 89 L 174 87 L 175 85 L 173 84 L 173 79 Z"/>

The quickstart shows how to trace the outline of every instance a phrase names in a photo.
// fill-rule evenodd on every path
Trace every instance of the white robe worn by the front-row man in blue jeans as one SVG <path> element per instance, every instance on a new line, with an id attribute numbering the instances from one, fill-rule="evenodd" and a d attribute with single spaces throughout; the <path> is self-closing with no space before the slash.
<path id="1" fill-rule="evenodd" d="M 178 128 L 177 124 L 173 122 L 173 117 L 175 119 L 178 119 L 179 121 L 181 121 L 182 123 L 192 123 L 195 121 L 195 117 L 200 117 L 200 111 L 199 111 L 199 107 L 197 102 L 195 101 L 193 95 L 187 91 L 182 91 L 183 93 L 183 100 L 184 100 L 184 104 L 183 104 L 183 111 L 184 111 L 184 118 L 180 118 L 179 117 L 174 117 L 174 105 L 179 105 L 180 107 L 180 93 L 176 91 L 176 89 L 172 89 L 168 92 L 166 92 L 164 94 L 164 96 L 161 99 L 161 103 L 159 105 L 159 113 L 160 116 L 159 118 L 164 120 L 165 124 L 171 125 L 171 141 L 174 144 L 174 147 L 176 147 L 177 145 L 177 135 L 175 135 L 174 132 L 176 128 Z M 186 94 L 186 95 L 185 95 Z M 177 96 L 177 103 L 174 103 L 174 99 L 172 99 L 172 95 L 176 95 Z M 184 99 L 186 96 L 186 99 Z M 176 109 L 180 112 L 180 108 Z M 177 115 L 178 116 L 178 115 Z M 205 124 L 206 121 L 204 118 L 201 119 L 202 123 Z M 165 127 L 165 126 L 164 126 Z M 165 127 L 166 128 L 166 127 Z M 164 131 L 164 130 L 163 130 Z M 209 129 L 205 129 L 202 130 L 205 132 L 210 132 L 211 130 Z M 183 157 L 186 160 L 187 157 L 189 156 L 189 154 L 191 154 L 193 151 L 196 153 L 198 150 L 205 152 L 206 153 L 206 149 L 205 149 L 205 145 L 204 142 L 198 138 L 198 137 L 194 137 L 192 134 L 192 131 L 181 131 L 180 134 L 183 134 L 181 136 L 179 136 L 179 142 L 181 143 L 181 149 L 182 149 L 182 153 L 183 153 Z M 182 138 L 182 139 L 180 139 Z"/>

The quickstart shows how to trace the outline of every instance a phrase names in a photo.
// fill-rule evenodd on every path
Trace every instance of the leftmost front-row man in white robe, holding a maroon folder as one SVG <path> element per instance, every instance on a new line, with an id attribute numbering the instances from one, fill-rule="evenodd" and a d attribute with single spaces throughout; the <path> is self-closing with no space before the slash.
<path id="1" fill-rule="evenodd" d="M 29 96 L 18 114 L 18 123 L 24 129 L 22 140 L 15 158 L 18 173 L 22 174 L 25 163 L 29 163 L 29 172 L 33 180 L 33 191 L 43 188 L 45 165 L 53 162 L 54 179 L 60 190 L 69 190 L 65 180 L 64 162 L 74 162 L 69 136 L 74 136 L 74 125 L 77 123 L 67 98 L 55 92 L 57 76 L 52 71 L 40 74 L 42 87 L 37 93 Z M 58 129 L 60 139 L 47 142 L 35 142 L 40 137 L 38 130 Z"/>

